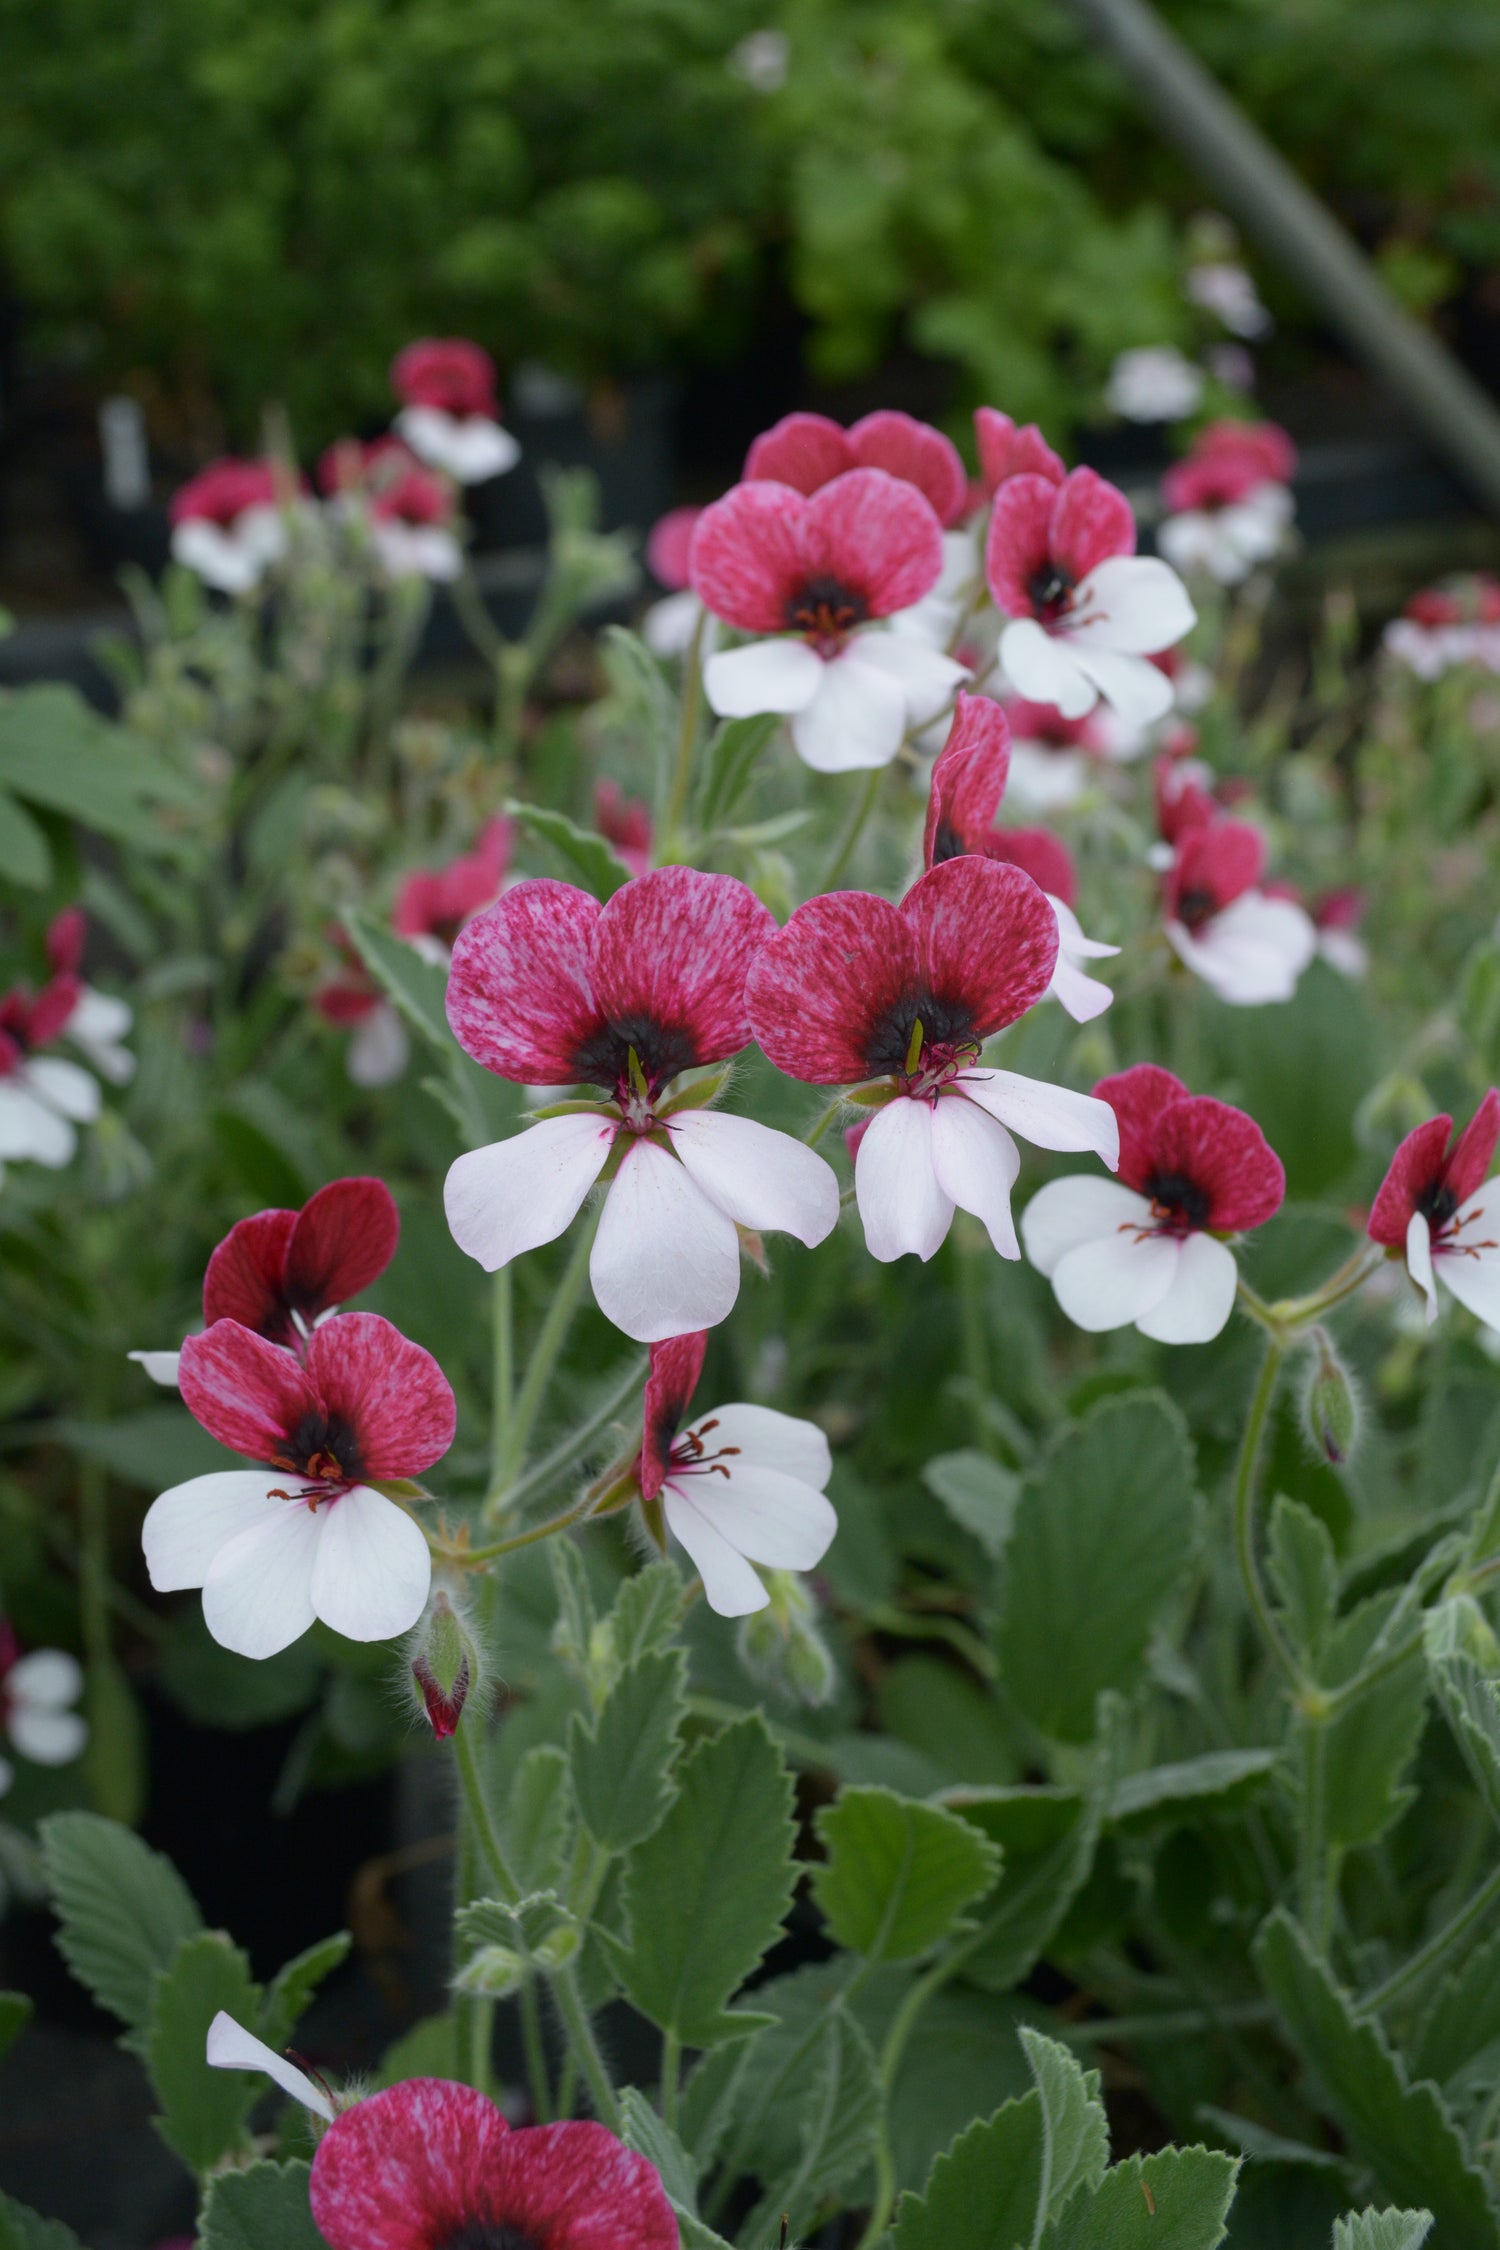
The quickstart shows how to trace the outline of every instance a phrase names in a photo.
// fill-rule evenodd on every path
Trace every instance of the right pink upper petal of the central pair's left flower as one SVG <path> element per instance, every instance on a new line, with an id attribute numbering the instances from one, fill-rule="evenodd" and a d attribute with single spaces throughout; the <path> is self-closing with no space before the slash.
<path id="1" fill-rule="evenodd" d="M 733 875 L 699 875 L 690 866 L 636 875 L 621 884 L 594 929 L 598 1012 L 616 1044 L 632 1026 L 652 1026 L 639 1053 L 657 1084 L 695 1062 L 738 1055 L 751 1037 L 744 979 L 771 936 L 774 914 Z"/>

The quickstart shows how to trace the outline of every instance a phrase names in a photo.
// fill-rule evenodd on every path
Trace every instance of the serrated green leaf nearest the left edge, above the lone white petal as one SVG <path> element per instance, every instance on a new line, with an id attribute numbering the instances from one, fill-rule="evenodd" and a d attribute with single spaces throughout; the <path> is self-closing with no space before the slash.
<path id="1" fill-rule="evenodd" d="M 187 1883 L 169 1858 L 99 1814 L 52 1814 L 40 1845 L 63 1960 L 101 2007 L 144 2032 L 157 1971 L 202 1930 Z"/>

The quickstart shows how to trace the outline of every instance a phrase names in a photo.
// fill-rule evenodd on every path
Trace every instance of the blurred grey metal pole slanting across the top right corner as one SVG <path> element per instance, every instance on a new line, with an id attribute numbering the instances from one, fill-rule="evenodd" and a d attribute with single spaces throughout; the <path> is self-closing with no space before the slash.
<path id="1" fill-rule="evenodd" d="M 1208 180 L 1433 448 L 1500 515 L 1500 410 L 1390 295 L 1358 243 L 1302 184 L 1147 0 L 1066 0 L 1109 50 L 1160 133 Z"/>

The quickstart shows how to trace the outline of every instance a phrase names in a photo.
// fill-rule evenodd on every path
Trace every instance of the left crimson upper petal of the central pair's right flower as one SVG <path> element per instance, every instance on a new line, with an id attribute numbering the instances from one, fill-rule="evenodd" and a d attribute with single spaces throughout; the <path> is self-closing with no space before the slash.
<path id="1" fill-rule="evenodd" d="M 902 911 L 868 891 L 830 891 L 767 943 L 744 1001 L 778 1071 L 837 1087 L 895 1066 L 870 1058 L 884 1055 L 888 1026 L 915 988 L 918 950 Z"/>

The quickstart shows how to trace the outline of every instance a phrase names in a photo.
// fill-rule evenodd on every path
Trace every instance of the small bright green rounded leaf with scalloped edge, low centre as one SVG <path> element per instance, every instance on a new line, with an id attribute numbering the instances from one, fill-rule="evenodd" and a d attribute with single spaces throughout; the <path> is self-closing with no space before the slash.
<path id="1" fill-rule="evenodd" d="M 812 1894 L 832 1937 L 870 1960 L 927 1953 L 1001 1872 L 976 1827 L 893 1789 L 843 1789 L 814 1827 L 828 1861 L 812 1870 Z"/>

